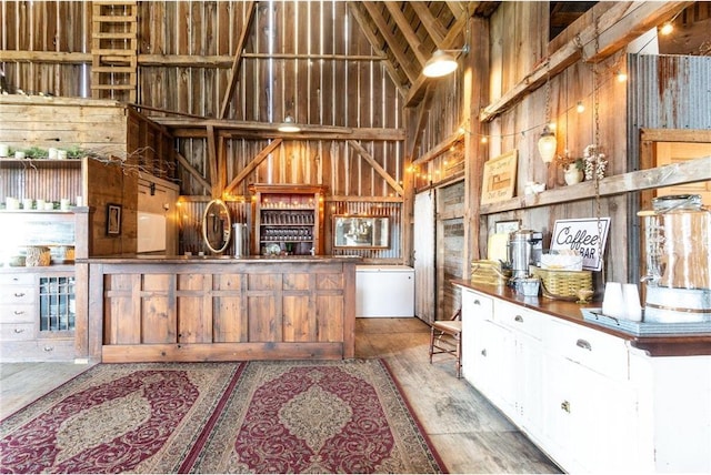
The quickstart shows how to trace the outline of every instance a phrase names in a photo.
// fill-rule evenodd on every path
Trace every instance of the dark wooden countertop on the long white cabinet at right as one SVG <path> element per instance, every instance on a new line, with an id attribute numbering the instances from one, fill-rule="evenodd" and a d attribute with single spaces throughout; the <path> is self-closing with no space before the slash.
<path id="1" fill-rule="evenodd" d="M 454 285 L 471 289 L 527 309 L 543 312 L 558 319 L 563 319 L 579 325 L 588 326 L 590 329 L 628 340 L 631 346 L 647 352 L 650 356 L 711 355 L 711 333 L 669 333 L 663 335 L 638 336 L 583 320 L 580 309 L 600 309 L 602 306 L 602 302 L 600 301 L 592 301 L 589 304 L 581 305 L 574 302 L 553 300 L 544 296 L 527 297 L 505 285 L 473 284 L 470 281 L 464 280 L 453 280 L 451 282 Z"/>

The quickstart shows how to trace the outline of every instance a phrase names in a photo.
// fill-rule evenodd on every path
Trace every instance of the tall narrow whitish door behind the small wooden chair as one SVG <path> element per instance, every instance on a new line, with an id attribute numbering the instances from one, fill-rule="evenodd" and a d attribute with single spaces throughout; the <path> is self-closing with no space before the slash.
<path id="1" fill-rule="evenodd" d="M 414 196 L 414 314 L 434 321 L 434 196 L 429 191 Z"/>

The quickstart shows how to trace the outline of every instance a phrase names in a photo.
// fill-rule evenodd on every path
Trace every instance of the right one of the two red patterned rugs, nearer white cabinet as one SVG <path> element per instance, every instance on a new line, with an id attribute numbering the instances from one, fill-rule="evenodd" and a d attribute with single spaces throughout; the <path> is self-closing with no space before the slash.
<path id="1" fill-rule="evenodd" d="M 193 473 L 444 469 L 380 360 L 249 363 L 187 462 Z"/>

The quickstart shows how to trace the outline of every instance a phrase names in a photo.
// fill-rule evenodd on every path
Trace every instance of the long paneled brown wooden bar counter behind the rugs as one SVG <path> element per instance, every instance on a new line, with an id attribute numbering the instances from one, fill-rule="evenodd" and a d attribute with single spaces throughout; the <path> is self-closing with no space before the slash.
<path id="1" fill-rule="evenodd" d="M 84 261 L 86 340 L 92 360 L 353 357 L 358 257 L 131 255 Z"/>

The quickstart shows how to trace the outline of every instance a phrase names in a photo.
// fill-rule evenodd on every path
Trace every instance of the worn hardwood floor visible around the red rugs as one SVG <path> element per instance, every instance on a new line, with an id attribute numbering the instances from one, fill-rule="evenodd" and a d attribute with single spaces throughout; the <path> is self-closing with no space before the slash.
<path id="1" fill-rule="evenodd" d="M 356 355 L 382 357 L 450 473 L 560 473 L 464 380 L 453 360 L 429 364 L 429 326 L 418 319 L 358 319 Z M 73 363 L 0 364 L 0 420 L 86 371 Z"/>

